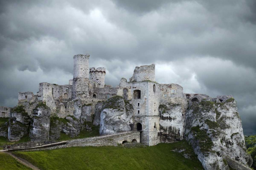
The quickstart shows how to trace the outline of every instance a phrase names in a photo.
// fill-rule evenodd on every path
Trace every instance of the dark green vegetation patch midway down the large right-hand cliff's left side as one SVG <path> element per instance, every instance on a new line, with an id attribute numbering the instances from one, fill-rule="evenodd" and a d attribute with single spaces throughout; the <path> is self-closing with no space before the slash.
<path id="1" fill-rule="evenodd" d="M 200 151 L 202 153 L 213 152 L 211 148 L 213 147 L 213 142 L 211 138 L 207 135 L 206 130 L 201 130 L 199 126 L 194 126 L 191 128 L 191 132 L 194 134 L 195 139 L 199 141 Z"/>

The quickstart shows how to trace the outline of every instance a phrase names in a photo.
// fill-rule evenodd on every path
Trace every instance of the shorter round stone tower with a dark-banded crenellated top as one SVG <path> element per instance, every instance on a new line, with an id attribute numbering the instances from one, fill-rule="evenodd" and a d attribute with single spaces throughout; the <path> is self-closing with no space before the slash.
<path id="1" fill-rule="evenodd" d="M 91 80 L 93 81 L 95 87 L 103 88 L 105 86 L 105 74 L 106 69 L 104 67 L 94 67 L 90 68 Z"/>

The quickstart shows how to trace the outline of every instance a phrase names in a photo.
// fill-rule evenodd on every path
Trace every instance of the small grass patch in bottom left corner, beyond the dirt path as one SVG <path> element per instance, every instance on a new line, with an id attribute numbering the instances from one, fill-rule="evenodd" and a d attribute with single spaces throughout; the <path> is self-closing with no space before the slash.
<path id="1" fill-rule="evenodd" d="M 12 156 L 0 152 L 0 170 L 31 170 L 25 165 L 19 163 Z"/>

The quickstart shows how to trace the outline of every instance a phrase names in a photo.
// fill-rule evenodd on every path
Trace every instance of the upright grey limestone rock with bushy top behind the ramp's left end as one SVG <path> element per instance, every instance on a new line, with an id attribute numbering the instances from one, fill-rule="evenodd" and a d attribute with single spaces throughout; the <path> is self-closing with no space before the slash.
<path id="1" fill-rule="evenodd" d="M 29 132 L 29 137 L 32 140 L 47 140 L 50 138 L 50 113 L 51 110 L 45 104 L 36 106 Z"/>

